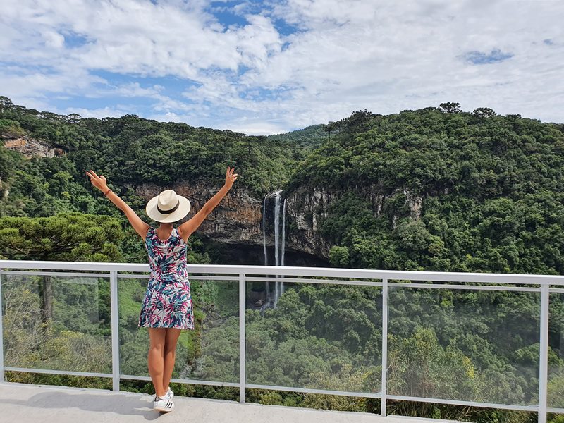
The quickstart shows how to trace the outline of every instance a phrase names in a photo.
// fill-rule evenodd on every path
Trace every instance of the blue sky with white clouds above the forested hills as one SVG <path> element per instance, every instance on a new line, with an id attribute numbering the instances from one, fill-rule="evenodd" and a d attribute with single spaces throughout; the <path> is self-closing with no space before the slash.
<path id="1" fill-rule="evenodd" d="M 564 1 L 2 0 L 0 95 L 286 133 L 458 102 L 564 122 Z"/>

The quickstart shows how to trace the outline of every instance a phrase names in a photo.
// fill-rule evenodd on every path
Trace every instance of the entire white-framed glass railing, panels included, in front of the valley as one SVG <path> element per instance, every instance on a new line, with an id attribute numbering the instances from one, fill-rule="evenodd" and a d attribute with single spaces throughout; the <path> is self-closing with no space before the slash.
<path id="1" fill-rule="evenodd" d="M 564 414 L 564 276 L 189 265 L 173 382 Z M 0 260 L 5 371 L 150 381 L 148 264 Z M 382 369 L 386 369 L 382 372 Z"/>

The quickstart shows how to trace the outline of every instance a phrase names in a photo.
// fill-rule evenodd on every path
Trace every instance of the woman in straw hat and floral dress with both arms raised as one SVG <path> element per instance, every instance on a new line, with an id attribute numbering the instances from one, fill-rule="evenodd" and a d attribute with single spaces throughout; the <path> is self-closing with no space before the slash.
<path id="1" fill-rule="evenodd" d="M 190 235 L 202 224 L 207 215 L 221 202 L 237 179 L 234 168 L 227 168 L 225 185 L 192 219 L 178 228 L 173 223 L 190 212 L 190 201 L 173 190 L 164 190 L 147 203 L 145 211 L 159 228 L 154 229 L 106 185 L 106 178 L 94 171 L 86 172 L 94 187 L 121 209 L 143 240 L 149 254 L 151 276 L 143 299 L 139 327 L 149 331 L 149 374 L 155 389 L 153 409 L 170 412 L 174 396 L 168 384 L 171 381 L 176 358 L 176 342 L 181 329 L 194 329 L 194 314 L 190 281 L 186 267 L 186 246 Z"/>

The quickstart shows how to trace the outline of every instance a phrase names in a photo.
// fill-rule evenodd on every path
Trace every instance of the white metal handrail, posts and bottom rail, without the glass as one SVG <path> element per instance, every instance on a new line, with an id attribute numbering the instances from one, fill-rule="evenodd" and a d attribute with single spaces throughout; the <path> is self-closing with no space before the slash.
<path id="1" fill-rule="evenodd" d="M 12 270 L 8 270 L 12 269 Z M 13 269 L 27 269 L 18 271 Z M 29 271 L 29 269 L 49 272 Z M 61 272 L 80 271 L 81 273 Z M 112 377 L 112 388 L 119 391 L 120 379 L 150 380 L 147 376 L 133 376 L 121 374 L 119 369 L 119 319 L 118 319 L 118 278 L 131 277 L 135 274 L 123 274 L 120 272 L 149 272 L 149 264 L 146 263 L 99 263 L 99 262 L 41 262 L 35 260 L 0 260 L 0 277 L 2 274 L 60 274 L 61 276 L 81 275 L 82 272 L 97 271 L 101 273 L 88 273 L 90 277 L 107 277 L 110 280 L 111 301 L 111 352 L 112 373 L 104 374 Z M 537 411 L 539 423 L 546 423 L 547 412 L 564 412 L 563 409 L 547 407 L 547 382 L 548 382 L 548 307 L 550 293 L 564 293 L 564 276 L 559 275 L 534 275 L 534 274 L 491 274 L 491 273 L 464 273 L 464 272 L 437 272 L 437 271 L 397 271 L 376 269 L 336 269 L 328 267 L 300 267 L 300 266 L 247 266 L 227 264 L 188 264 L 189 274 L 232 274 L 233 280 L 239 281 L 239 382 L 221 381 L 194 381 L 188 379 L 173 379 L 173 381 L 192 384 L 222 384 L 225 386 L 238 386 L 240 388 L 240 403 L 245 403 L 246 388 L 278 389 L 282 391 L 331 393 L 334 395 L 353 395 L 370 398 L 381 398 L 381 415 L 386 415 L 386 400 L 416 400 L 433 403 L 471 405 L 476 407 L 496 407 L 508 410 L 530 410 Z M 323 389 L 299 388 L 288 386 L 270 386 L 247 384 L 245 376 L 245 282 L 246 281 L 268 281 L 274 280 L 269 277 L 258 277 L 250 275 L 274 275 L 274 276 L 300 276 L 301 278 L 290 278 L 292 282 L 298 283 L 336 283 L 353 285 L 370 285 L 382 287 L 382 375 L 381 392 L 379 393 L 354 393 L 344 391 L 327 391 Z M 309 278 L 307 278 L 309 276 Z M 326 279 L 314 279 L 324 277 Z M 197 276 L 195 276 L 197 278 Z M 219 277 L 223 280 L 227 276 Z M 329 278 L 349 278 L 348 281 L 331 280 Z M 351 281 L 350 278 L 371 279 L 374 281 Z M 209 278 L 212 279 L 212 278 Z M 390 281 L 433 281 L 450 282 L 445 283 L 398 283 Z M 1 278 L 0 278 L 1 281 Z M 488 283 L 489 285 L 455 285 L 460 283 Z M 503 283 L 505 286 L 491 286 L 491 284 Z M 529 285 L 529 286 L 523 286 Z M 532 286 L 530 286 L 532 285 Z M 410 396 L 395 396 L 386 392 L 387 388 L 387 364 L 388 364 L 388 288 L 398 286 L 415 286 L 416 288 L 448 288 L 448 289 L 474 289 L 474 290 L 518 290 L 534 291 L 541 295 L 540 309 L 540 352 L 539 352 L 539 403 L 537 405 L 507 405 L 493 403 L 475 403 L 462 400 L 446 400 L 440 398 L 419 398 Z M 1 283 L 0 283 L 0 309 L 1 309 Z M 4 340 L 2 317 L 0 315 L 0 381 L 4 381 L 5 370 L 20 370 L 28 372 L 42 372 L 52 374 L 80 374 L 92 375 L 87 372 L 63 372 L 47 369 L 23 369 L 18 367 L 4 367 Z M 433 421 L 430 419 L 429 421 Z"/>

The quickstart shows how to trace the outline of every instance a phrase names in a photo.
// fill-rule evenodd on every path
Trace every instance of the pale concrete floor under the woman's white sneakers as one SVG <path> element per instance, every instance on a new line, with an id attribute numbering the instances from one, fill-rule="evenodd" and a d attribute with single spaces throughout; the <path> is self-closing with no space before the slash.
<path id="1" fill-rule="evenodd" d="M 169 413 L 161 413 L 152 410 L 152 400 L 153 396 L 143 393 L 0 382 L 0 422 L 137 423 L 153 419 L 183 423 L 446 422 L 438 419 L 381 417 L 364 412 L 241 404 L 234 401 L 187 397 L 174 398 L 175 409 Z"/>

